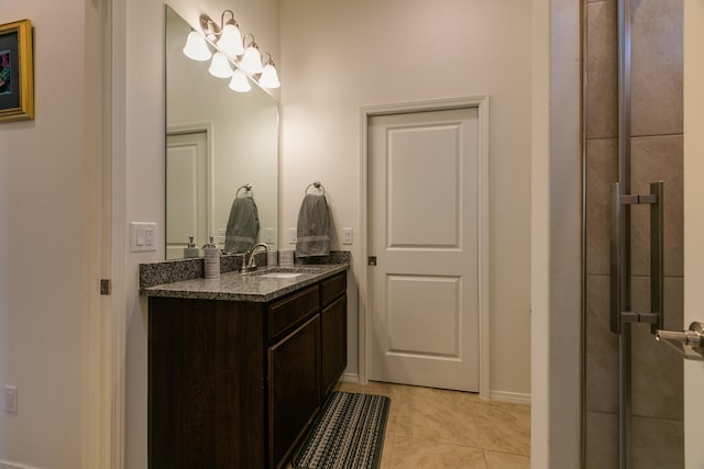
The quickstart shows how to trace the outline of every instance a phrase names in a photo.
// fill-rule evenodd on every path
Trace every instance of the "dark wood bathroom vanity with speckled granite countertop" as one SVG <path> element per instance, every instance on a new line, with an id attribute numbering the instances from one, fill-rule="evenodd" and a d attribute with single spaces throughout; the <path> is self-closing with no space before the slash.
<path id="1" fill-rule="evenodd" d="M 142 289 L 150 468 L 285 465 L 346 366 L 346 268 Z"/>

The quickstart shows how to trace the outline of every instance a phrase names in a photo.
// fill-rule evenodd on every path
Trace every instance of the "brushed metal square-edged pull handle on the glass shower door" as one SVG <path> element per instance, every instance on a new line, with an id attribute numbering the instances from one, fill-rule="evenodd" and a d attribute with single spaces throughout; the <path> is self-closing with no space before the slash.
<path id="1" fill-rule="evenodd" d="M 664 319 L 664 288 L 663 288 L 663 221 L 664 221 L 664 189 L 663 182 L 650 183 L 650 193 L 644 196 L 624 194 L 620 183 L 612 185 L 612 223 L 610 223 L 610 330 L 620 334 L 624 322 L 649 323 L 650 332 L 663 327 Z M 624 211 L 626 205 L 650 205 L 650 313 L 625 311 L 624 303 L 629 303 L 630 292 L 624 291 L 624 277 L 629 276 L 626 265 L 625 250 L 629 248 L 630 239 L 624 237 L 624 226 L 628 216 Z M 626 231 L 627 233 L 628 231 Z M 629 305 L 626 305 L 629 308 Z"/>

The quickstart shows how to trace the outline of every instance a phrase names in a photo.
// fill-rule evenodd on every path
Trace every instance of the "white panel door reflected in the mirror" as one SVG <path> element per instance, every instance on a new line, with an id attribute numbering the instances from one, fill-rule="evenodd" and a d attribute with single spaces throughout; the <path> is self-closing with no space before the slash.
<path id="1" fill-rule="evenodd" d="M 208 142 L 205 132 L 166 138 L 166 258 L 184 257 L 188 237 L 207 243 Z"/>

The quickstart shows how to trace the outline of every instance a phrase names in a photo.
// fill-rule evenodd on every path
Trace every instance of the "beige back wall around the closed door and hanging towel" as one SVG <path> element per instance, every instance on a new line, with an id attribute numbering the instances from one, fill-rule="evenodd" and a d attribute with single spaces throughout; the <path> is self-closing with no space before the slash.
<path id="1" fill-rule="evenodd" d="M 283 0 L 280 8 L 282 245 L 304 189 L 319 179 L 333 248 L 361 255 L 360 107 L 491 96 L 491 389 L 529 394 L 530 2 Z M 352 246 L 340 245 L 346 226 Z M 356 277 L 350 373 L 359 370 Z"/>

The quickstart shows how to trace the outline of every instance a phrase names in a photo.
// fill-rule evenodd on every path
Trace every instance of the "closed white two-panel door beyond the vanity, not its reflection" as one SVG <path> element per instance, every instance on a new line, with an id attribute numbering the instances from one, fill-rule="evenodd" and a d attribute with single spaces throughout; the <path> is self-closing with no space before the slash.
<path id="1" fill-rule="evenodd" d="M 369 125 L 369 377 L 479 391 L 477 109 Z"/>

